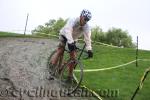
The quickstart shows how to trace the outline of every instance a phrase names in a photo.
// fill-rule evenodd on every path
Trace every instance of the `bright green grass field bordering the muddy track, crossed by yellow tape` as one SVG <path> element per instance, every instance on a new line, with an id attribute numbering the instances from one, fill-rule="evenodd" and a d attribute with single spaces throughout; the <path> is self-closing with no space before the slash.
<path id="1" fill-rule="evenodd" d="M 21 36 L 15 33 L 0 32 L 0 37 Z M 32 37 L 32 36 L 29 36 Z M 94 58 L 81 61 L 86 69 L 103 69 L 122 65 L 135 60 L 136 50 L 131 48 L 113 48 L 103 45 L 93 44 Z M 119 68 L 84 72 L 82 84 L 96 91 L 103 100 L 130 100 L 135 92 L 145 70 L 150 67 L 150 51 L 139 50 L 139 59 L 149 59 L 149 61 L 138 61 Z M 148 74 L 142 89 L 137 93 L 134 100 L 150 99 L 150 74 Z M 117 90 L 117 96 L 110 96 L 109 90 Z"/>

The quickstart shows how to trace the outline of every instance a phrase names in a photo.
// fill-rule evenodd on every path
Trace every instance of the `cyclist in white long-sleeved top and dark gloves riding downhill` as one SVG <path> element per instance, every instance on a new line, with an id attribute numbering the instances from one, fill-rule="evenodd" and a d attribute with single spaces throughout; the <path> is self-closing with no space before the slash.
<path id="1" fill-rule="evenodd" d="M 88 52 L 88 57 L 93 57 L 92 46 L 91 46 L 91 29 L 88 25 L 88 21 L 91 19 L 92 15 L 89 10 L 82 10 L 80 17 L 68 19 L 65 26 L 60 30 L 59 45 L 57 52 L 55 53 L 51 64 L 57 64 L 58 57 L 63 54 L 66 44 L 70 50 L 70 59 L 76 58 L 76 41 L 80 36 L 84 36 L 84 41 L 86 43 L 86 50 Z M 69 66 L 68 81 L 73 79 L 73 69 L 74 65 Z"/>

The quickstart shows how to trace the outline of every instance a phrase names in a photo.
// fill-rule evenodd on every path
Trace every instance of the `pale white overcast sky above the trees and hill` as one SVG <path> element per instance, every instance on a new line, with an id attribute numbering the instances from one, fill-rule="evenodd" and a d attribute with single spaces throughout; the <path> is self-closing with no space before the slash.
<path id="1" fill-rule="evenodd" d="M 91 26 L 127 30 L 139 48 L 150 50 L 150 0 L 0 0 L 0 31 L 23 33 L 50 19 L 78 17 L 82 9 L 92 12 Z"/>

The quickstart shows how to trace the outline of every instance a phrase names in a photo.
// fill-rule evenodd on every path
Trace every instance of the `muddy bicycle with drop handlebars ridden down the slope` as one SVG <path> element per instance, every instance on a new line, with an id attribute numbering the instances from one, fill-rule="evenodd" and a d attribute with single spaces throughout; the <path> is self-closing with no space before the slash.
<path id="1" fill-rule="evenodd" d="M 69 54 L 69 50 L 65 48 L 64 53 L 59 56 L 59 60 L 55 66 L 51 66 L 50 60 L 52 59 L 52 56 L 55 54 L 56 50 L 54 50 L 50 57 L 48 58 L 48 67 L 51 70 L 51 74 L 59 79 L 60 82 L 60 88 L 62 89 L 67 88 L 67 94 L 74 93 L 80 86 L 82 79 L 83 79 L 83 64 L 80 62 L 80 58 L 83 54 L 83 52 L 87 53 L 85 49 L 86 44 L 84 44 L 83 48 L 76 48 L 77 52 L 81 51 L 78 55 L 77 59 L 68 59 L 67 54 Z M 68 75 L 68 66 L 69 64 L 74 63 L 74 70 L 73 70 L 73 78 L 74 80 L 67 84 L 64 82 L 64 80 L 67 78 Z M 79 72 L 76 72 L 75 69 L 79 70 Z"/>

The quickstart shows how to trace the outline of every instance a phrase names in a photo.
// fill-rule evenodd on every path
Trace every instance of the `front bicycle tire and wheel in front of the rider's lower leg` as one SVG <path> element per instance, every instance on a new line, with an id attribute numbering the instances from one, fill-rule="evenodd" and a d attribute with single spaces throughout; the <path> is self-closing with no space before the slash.
<path id="1" fill-rule="evenodd" d="M 77 82 L 75 86 L 73 86 L 72 84 L 70 86 L 68 86 L 67 83 L 65 83 L 65 78 L 67 77 L 67 68 L 68 68 L 68 65 L 72 62 L 72 61 L 75 61 L 76 62 L 76 69 L 79 69 L 79 75 L 77 74 L 78 72 L 75 71 L 75 69 L 73 70 L 73 75 L 74 75 L 74 79 L 75 77 L 77 78 L 77 80 L 75 79 L 75 81 Z M 70 95 L 72 93 L 74 93 L 80 86 L 81 82 L 82 82 L 82 79 L 83 79 L 83 64 L 78 61 L 78 60 L 70 60 L 68 61 L 64 67 L 63 67 L 63 70 L 61 71 L 61 74 L 60 74 L 60 77 L 59 77 L 59 80 L 60 80 L 60 89 L 62 91 L 62 89 L 64 89 L 65 91 L 65 94 L 67 95 Z M 66 90 L 67 89 L 67 90 Z"/>

